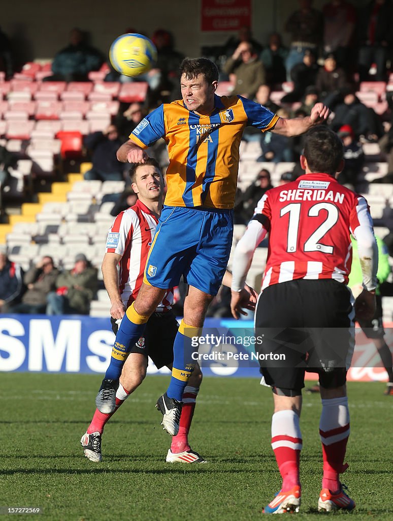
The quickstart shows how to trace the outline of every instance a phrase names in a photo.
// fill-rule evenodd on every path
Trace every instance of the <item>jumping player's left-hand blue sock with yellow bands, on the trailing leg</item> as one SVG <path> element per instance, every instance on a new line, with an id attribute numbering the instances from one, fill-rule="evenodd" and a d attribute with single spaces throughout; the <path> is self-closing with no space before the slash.
<path id="1" fill-rule="evenodd" d="M 129 306 L 116 334 L 111 361 L 105 373 L 106 379 L 119 380 L 128 353 L 142 336 L 148 320 L 148 315 L 140 315 L 135 311 L 134 302 Z"/>

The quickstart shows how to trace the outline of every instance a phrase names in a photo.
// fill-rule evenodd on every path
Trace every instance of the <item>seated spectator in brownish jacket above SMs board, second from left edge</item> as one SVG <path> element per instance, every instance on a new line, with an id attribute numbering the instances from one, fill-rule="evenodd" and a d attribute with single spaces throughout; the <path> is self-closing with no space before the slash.
<path id="1" fill-rule="evenodd" d="M 42 257 L 35 266 L 24 275 L 23 282 L 27 290 L 22 296 L 22 302 L 11 305 L 10 313 L 45 313 L 46 297 L 56 289 L 55 282 L 59 271 L 53 264 L 53 258 Z"/>

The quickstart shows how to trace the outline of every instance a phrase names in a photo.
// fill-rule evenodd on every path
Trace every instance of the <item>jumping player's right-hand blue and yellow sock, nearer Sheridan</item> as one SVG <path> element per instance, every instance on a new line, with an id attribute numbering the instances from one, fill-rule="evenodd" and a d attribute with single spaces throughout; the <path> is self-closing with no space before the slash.
<path id="1" fill-rule="evenodd" d="M 201 331 L 202 328 L 187 326 L 184 320 L 181 320 L 176 334 L 173 344 L 172 378 L 166 394 L 169 398 L 174 398 L 178 402 L 181 402 L 188 379 L 195 367 L 195 360 L 192 359 L 191 355 L 198 351 L 198 346 L 192 345 L 192 339 L 199 337 Z"/>

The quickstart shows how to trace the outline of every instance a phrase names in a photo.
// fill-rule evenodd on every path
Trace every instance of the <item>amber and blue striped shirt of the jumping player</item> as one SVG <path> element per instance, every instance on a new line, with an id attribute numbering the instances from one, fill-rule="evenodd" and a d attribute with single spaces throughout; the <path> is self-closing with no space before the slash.
<path id="1" fill-rule="evenodd" d="M 263 105 L 242 96 L 215 95 L 204 116 L 182 100 L 153 110 L 129 138 L 147 148 L 160 138 L 168 145 L 167 206 L 233 208 L 238 181 L 239 146 L 247 125 L 270 130 L 277 122 Z"/>

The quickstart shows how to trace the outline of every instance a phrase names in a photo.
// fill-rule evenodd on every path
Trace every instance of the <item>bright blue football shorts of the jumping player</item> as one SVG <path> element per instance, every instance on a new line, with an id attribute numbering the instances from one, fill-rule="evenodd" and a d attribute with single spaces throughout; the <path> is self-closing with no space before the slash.
<path id="1" fill-rule="evenodd" d="M 164 206 L 150 247 L 143 281 L 156 288 L 178 286 L 181 276 L 216 295 L 228 264 L 233 211 Z"/>

